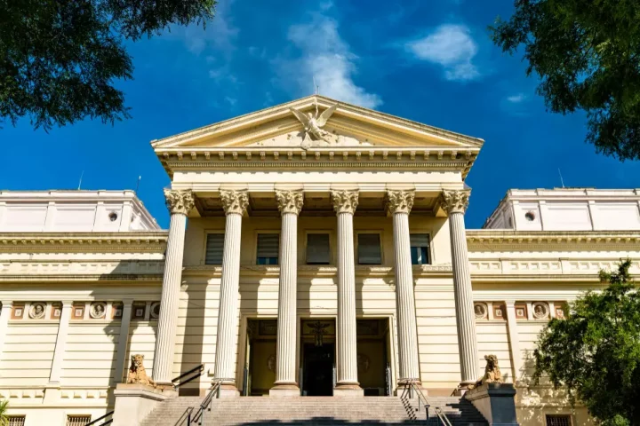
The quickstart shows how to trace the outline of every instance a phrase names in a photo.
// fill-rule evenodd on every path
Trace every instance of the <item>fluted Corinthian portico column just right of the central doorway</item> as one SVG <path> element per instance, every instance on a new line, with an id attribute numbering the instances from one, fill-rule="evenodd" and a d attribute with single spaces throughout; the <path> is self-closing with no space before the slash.
<path id="1" fill-rule="evenodd" d="M 364 395 L 357 381 L 356 263 L 353 215 L 357 191 L 332 191 L 338 216 L 338 321 L 336 327 L 337 377 L 333 395 Z"/>

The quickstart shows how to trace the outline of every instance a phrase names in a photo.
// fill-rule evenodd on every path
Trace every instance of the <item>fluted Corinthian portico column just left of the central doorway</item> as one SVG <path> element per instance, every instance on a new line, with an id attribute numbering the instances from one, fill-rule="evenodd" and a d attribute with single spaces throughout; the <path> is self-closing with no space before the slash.
<path id="1" fill-rule="evenodd" d="M 296 383 L 296 300 L 298 298 L 298 215 L 302 209 L 302 191 L 276 190 L 278 209 L 282 214 L 280 233 L 280 288 L 276 349 L 276 383 L 271 396 L 300 395 Z"/>

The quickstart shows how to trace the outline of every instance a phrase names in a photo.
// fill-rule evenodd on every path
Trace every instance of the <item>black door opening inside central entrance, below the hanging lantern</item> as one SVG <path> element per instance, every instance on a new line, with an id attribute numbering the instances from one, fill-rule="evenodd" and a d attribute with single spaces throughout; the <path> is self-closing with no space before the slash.
<path id="1" fill-rule="evenodd" d="M 333 395 L 333 343 L 304 345 L 302 392 L 308 397 Z"/>

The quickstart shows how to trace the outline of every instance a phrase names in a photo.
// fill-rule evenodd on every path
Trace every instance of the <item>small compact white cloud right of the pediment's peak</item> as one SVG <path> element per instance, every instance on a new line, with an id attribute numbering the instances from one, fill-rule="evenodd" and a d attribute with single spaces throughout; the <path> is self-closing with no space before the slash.
<path id="1" fill-rule="evenodd" d="M 441 25 L 428 36 L 407 43 L 405 47 L 416 58 L 443 67 L 447 80 L 468 81 L 480 76 L 472 62 L 477 44 L 465 25 Z"/>

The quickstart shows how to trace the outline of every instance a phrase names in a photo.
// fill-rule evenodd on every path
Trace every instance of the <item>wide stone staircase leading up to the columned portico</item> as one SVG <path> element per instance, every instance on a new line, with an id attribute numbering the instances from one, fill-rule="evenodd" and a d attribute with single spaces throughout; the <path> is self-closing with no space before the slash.
<path id="1" fill-rule="evenodd" d="M 196 413 L 202 398 L 180 397 L 158 406 L 142 426 L 173 426 L 189 406 Z M 280 426 L 310 424 L 431 424 L 440 426 L 434 407 L 442 408 L 455 426 L 487 426 L 476 407 L 460 398 L 428 398 L 429 422 L 424 409 L 418 413 L 418 399 L 398 397 L 366 398 L 228 398 L 213 399 L 211 412 L 205 412 L 205 426 L 274 424 Z M 186 422 L 183 423 L 186 425 Z M 196 424 L 196 423 L 195 423 Z"/>

